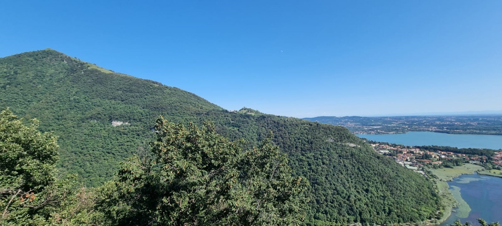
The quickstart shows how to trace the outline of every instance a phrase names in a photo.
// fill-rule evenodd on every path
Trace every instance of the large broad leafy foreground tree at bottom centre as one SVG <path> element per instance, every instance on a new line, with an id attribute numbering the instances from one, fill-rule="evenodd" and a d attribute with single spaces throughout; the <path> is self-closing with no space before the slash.
<path id="1" fill-rule="evenodd" d="M 122 163 L 103 186 L 99 208 L 115 225 L 297 225 L 307 181 L 293 177 L 287 156 L 267 139 L 244 151 L 214 125 L 199 129 L 160 118 L 153 158 Z M 112 203 L 109 205 L 109 203 Z"/>

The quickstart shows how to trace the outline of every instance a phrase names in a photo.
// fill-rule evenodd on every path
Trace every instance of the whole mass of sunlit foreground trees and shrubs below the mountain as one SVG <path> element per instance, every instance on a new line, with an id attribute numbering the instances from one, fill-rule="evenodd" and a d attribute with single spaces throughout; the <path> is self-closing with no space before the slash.
<path id="1" fill-rule="evenodd" d="M 52 133 L 0 113 L 0 225 L 299 225 L 306 188 L 266 139 L 244 150 L 214 125 L 157 121 L 151 150 L 120 163 L 105 185 L 57 177 Z"/>

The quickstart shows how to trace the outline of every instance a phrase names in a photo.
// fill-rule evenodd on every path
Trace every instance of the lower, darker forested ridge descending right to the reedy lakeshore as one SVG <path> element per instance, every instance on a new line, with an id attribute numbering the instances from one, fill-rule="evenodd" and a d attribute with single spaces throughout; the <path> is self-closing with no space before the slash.
<path id="1" fill-rule="evenodd" d="M 415 222 L 435 217 L 440 206 L 432 183 L 343 127 L 266 114 L 208 115 L 231 140 L 260 141 L 273 132 L 295 175 L 310 183 L 309 224 Z"/>

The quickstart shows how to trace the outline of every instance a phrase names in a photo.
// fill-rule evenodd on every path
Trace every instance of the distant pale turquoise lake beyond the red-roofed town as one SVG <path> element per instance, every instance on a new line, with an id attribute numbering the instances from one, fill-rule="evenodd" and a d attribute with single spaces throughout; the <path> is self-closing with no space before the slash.
<path id="1" fill-rule="evenodd" d="M 501 149 L 502 136 L 498 135 L 472 135 L 472 134 L 445 134 L 434 132 L 408 132 L 406 134 L 358 134 L 358 137 L 372 141 L 402 144 L 407 146 L 451 146 L 457 148 L 489 148 Z"/>

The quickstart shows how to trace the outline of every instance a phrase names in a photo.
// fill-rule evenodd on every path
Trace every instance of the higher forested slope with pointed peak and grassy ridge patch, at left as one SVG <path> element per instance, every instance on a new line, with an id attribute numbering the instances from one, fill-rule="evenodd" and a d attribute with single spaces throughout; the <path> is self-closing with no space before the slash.
<path id="1" fill-rule="evenodd" d="M 0 106 L 39 119 L 41 131 L 54 131 L 61 146 L 60 172 L 77 173 L 90 186 L 109 180 L 120 161 L 153 138 L 147 131 L 159 115 L 194 121 L 197 113 L 221 109 L 159 84 L 103 73 L 50 49 L 0 59 Z M 130 125 L 113 127 L 112 121 Z"/>

